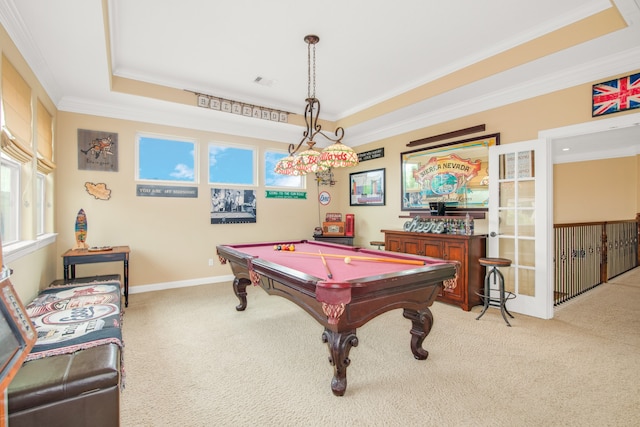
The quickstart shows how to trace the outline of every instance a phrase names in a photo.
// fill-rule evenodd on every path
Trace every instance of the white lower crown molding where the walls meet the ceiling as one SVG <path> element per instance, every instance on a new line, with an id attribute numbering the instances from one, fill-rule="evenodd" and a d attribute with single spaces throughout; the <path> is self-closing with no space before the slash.
<path id="1" fill-rule="evenodd" d="M 618 0 L 616 3 L 624 5 L 628 1 L 633 0 Z M 589 2 L 580 13 L 588 16 L 602 10 L 605 4 L 609 4 L 609 2 L 605 0 Z M 633 16 L 636 16 L 637 9 L 634 9 L 633 12 Z M 549 25 L 559 25 L 562 22 L 577 18 L 579 16 L 559 17 L 558 22 L 550 23 Z M 60 111 L 135 120 L 278 142 L 296 141 L 300 138 L 303 130 L 301 126 L 256 120 L 202 109 L 195 105 L 170 104 L 165 101 L 152 101 L 147 98 L 131 97 L 113 92 L 109 96 L 109 101 L 64 97 L 60 94 L 60 89 L 55 83 L 55 78 L 53 78 L 50 69 L 43 61 L 43 55 L 41 55 L 30 38 L 29 32 L 15 7 L 15 0 L 0 1 L 0 20 Z M 609 76 L 637 69 L 638 64 L 640 64 L 640 47 L 632 47 L 608 57 L 600 56 L 586 63 L 580 58 L 571 62 L 574 57 L 593 58 L 593 55 L 586 56 L 588 52 L 606 52 L 607 50 L 602 48 L 606 47 L 607 43 L 611 45 L 617 40 L 634 40 L 636 37 L 638 37 L 637 25 L 465 85 L 367 122 L 350 126 L 346 129 L 347 134 L 344 142 L 346 145 L 356 147 L 567 87 L 604 80 Z M 558 58 L 563 59 L 566 67 L 558 68 L 554 66 L 553 61 Z M 549 72 L 549 70 L 558 71 Z M 531 76 L 541 77 L 531 79 Z M 508 82 L 510 81 L 513 84 L 509 85 Z"/>

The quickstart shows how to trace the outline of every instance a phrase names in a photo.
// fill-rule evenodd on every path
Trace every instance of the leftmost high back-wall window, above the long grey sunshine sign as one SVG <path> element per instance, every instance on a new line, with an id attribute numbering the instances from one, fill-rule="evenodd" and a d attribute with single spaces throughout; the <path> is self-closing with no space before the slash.
<path id="1" fill-rule="evenodd" d="M 136 179 L 197 183 L 195 141 L 138 135 L 136 148 Z"/>

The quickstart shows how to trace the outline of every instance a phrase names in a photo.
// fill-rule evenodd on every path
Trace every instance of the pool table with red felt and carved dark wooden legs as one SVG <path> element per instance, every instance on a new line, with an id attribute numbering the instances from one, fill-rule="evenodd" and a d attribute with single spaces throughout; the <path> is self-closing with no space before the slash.
<path id="1" fill-rule="evenodd" d="M 236 310 L 246 309 L 246 289 L 253 284 L 294 302 L 324 326 L 322 341 L 329 348 L 336 396 L 347 388 L 349 352 L 358 345 L 356 329 L 389 310 L 403 309 L 412 323 L 411 351 L 418 360 L 427 358 L 422 342 L 433 325 L 429 307 L 440 286 L 454 286 L 457 272 L 455 262 L 437 258 L 307 240 L 216 249 L 220 262 L 228 262 L 235 275 Z"/>

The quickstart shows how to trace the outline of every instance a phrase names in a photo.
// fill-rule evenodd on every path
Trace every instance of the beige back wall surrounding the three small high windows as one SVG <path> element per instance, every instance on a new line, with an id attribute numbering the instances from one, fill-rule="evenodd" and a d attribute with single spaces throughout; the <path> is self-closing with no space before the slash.
<path id="1" fill-rule="evenodd" d="M 78 170 L 78 129 L 118 134 L 118 172 Z M 198 198 L 136 196 L 137 132 L 193 138 L 198 142 Z M 264 149 L 285 149 L 283 144 L 65 112 L 58 115 L 57 141 L 58 251 L 62 253 L 75 243 L 75 219 L 82 208 L 87 214 L 87 243 L 90 246 L 131 247 L 132 286 L 228 275 L 229 267 L 218 262 L 216 245 L 310 238 L 317 223 L 317 188 L 309 177 L 306 200 L 266 199 L 265 188 L 262 185 L 256 188 L 256 224 L 210 224 L 208 142 L 252 145 L 258 148 L 259 159 L 263 158 Z M 85 182 L 105 183 L 111 190 L 111 198 L 95 199 L 85 191 Z M 208 265 L 211 258 L 215 260 L 213 267 Z M 104 264 L 83 265 L 77 267 L 76 274 L 94 274 L 108 269 L 113 271 L 112 266 Z M 62 276 L 61 264 L 58 276 Z"/>

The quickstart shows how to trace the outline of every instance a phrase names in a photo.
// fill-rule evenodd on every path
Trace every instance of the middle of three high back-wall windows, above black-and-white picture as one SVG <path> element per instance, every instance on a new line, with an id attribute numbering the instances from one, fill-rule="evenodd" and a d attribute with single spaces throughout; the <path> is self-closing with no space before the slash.
<path id="1" fill-rule="evenodd" d="M 256 185 L 256 151 L 209 144 L 209 184 Z"/>

